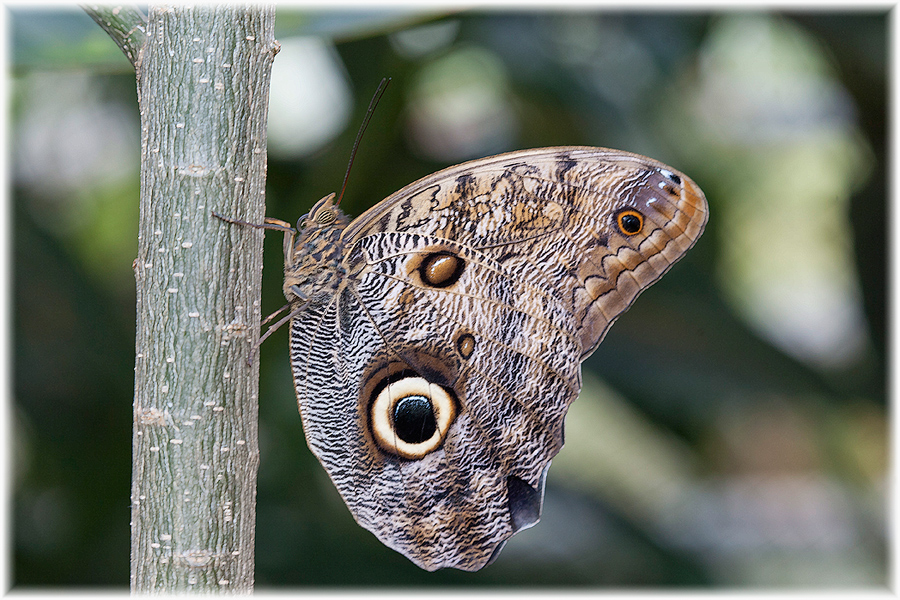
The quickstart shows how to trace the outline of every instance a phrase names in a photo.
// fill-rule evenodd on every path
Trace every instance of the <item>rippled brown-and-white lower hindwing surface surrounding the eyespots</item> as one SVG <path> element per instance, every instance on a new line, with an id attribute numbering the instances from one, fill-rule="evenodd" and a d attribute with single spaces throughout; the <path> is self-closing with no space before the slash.
<path id="1" fill-rule="evenodd" d="M 417 277 L 416 259 L 437 248 L 466 264 L 450 290 Z M 365 266 L 354 285 L 292 328 L 310 446 L 357 521 L 385 544 L 429 570 L 481 568 L 539 515 L 544 471 L 580 388 L 571 320 L 552 297 L 461 245 L 390 232 L 367 236 L 357 252 Z M 460 405 L 442 446 L 421 460 L 381 451 L 370 431 L 367 382 L 392 369 L 454 390 Z"/>

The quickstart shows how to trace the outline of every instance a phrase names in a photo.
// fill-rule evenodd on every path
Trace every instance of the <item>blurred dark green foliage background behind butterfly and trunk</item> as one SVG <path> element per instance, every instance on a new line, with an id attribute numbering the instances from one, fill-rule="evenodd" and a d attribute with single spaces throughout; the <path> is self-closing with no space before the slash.
<path id="1" fill-rule="evenodd" d="M 10 32 L 16 586 L 127 589 L 139 126 L 75 7 Z M 887 12 L 278 7 L 267 213 L 359 214 L 445 166 L 596 145 L 706 192 L 706 233 L 584 364 L 544 515 L 475 574 L 358 527 L 260 353 L 257 582 L 834 589 L 888 577 Z M 263 314 L 281 240 L 266 242 Z"/>

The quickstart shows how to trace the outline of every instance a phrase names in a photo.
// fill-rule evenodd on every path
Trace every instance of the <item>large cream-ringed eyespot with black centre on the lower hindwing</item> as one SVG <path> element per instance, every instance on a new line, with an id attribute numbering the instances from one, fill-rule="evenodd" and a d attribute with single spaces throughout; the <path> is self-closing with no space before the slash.
<path id="1" fill-rule="evenodd" d="M 441 446 L 456 417 L 456 403 L 441 386 L 405 377 L 384 386 L 370 412 L 372 434 L 381 448 L 418 459 Z"/>

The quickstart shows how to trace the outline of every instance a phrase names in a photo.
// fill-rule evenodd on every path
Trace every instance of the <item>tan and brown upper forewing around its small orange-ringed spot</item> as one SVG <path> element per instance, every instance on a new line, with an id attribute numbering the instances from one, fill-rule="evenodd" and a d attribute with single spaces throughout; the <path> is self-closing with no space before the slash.
<path id="1" fill-rule="evenodd" d="M 624 235 L 616 215 L 643 214 Z M 644 156 L 603 148 L 540 148 L 445 169 L 391 195 L 343 239 L 416 231 L 498 260 L 514 277 L 560 295 L 583 356 L 637 297 L 696 242 L 707 219 L 697 185 Z"/>

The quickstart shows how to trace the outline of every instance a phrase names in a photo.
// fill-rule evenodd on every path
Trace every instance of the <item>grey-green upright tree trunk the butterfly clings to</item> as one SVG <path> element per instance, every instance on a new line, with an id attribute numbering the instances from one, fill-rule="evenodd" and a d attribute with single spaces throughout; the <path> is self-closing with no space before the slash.
<path id="1" fill-rule="evenodd" d="M 88 12 L 135 65 L 141 114 L 131 590 L 249 593 L 263 234 L 211 212 L 265 214 L 275 11 L 114 10 Z"/>

